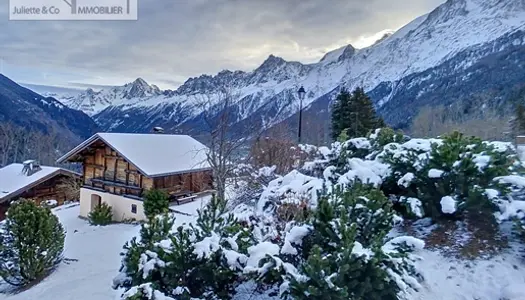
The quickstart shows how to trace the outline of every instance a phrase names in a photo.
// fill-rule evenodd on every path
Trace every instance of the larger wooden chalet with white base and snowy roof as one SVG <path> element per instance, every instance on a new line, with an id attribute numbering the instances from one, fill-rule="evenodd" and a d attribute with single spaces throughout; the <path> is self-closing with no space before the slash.
<path id="1" fill-rule="evenodd" d="M 97 133 L 58 159 L 82 164 L 80 216 L 100 203 L 113 220 L 144 220 L 143 195 L 163 190 L 173 205 L 212 192 L 208 148 L 187 135 Z"/>

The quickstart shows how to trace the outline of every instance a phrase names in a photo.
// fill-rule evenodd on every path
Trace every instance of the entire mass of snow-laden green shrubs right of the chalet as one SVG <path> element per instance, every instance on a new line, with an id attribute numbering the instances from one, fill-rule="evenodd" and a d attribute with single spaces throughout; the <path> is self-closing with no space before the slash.
<path id="1" fill-rule="evenodd" d="M 243 178 L 260 180 L 243 193 L 254 199 L 230 213 L 214 200 L 194 225 L 145 224 L 115 279 L 123 299 L 404 299 L 420 288 L 412 252 L 424 242 L 388 237 L 396 210 L 436 220 L 499 207 L 504 220 L 519 204 L 504 199 L 508 187 L 525 188 L 510 145 L 457 133 L 410 139 L 378 129 L 300 148 L 311 160 L 287 174 L 243 166 Z"/>

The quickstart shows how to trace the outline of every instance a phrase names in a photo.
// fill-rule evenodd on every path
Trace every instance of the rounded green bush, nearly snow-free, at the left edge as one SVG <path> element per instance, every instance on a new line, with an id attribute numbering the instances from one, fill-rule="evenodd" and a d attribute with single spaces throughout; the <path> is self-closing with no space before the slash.
<path id="1" fill-rule="evenodd" d="M 21 200 L 8 211 L 0 235 L 0 276 L 23 286 L 41 280 L 62 260 L 65 232 L 48 208 Z"/>

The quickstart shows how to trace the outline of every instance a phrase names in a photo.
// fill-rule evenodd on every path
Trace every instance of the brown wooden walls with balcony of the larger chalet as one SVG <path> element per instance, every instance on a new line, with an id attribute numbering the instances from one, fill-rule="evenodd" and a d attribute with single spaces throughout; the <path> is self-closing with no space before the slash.
<path id="1" fill-rule="evenodd" d="M 141 198 L 149 189 L 168 193 L 198 193 L 212 188 L 211 171 L 148 177 L 100 140 L 79 154 L 83 166 L 83 185 L 87 188 L 131 198 Z"/>

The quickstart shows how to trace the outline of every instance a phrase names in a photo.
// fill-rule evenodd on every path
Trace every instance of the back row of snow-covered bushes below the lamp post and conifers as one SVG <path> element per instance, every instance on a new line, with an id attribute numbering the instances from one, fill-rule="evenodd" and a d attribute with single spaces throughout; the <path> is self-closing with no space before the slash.
<path id="1" fill-rule="evenodd" d="M 367 138 L 308 149 L 314 158 L 300 172 L 323 180 L 328 189 L 355 181 L 370 183 L 405 217 L 434 220 L 462 218 L 466 213 L 490 215 L 508 194 L 513 183 L 508 176 L 521 169 L 510 143 L 484 142 L 457 132 L 439 139 L 411 139 L 383 128 Z M 489 199 L 491 190 L 498 197 Z"/>

